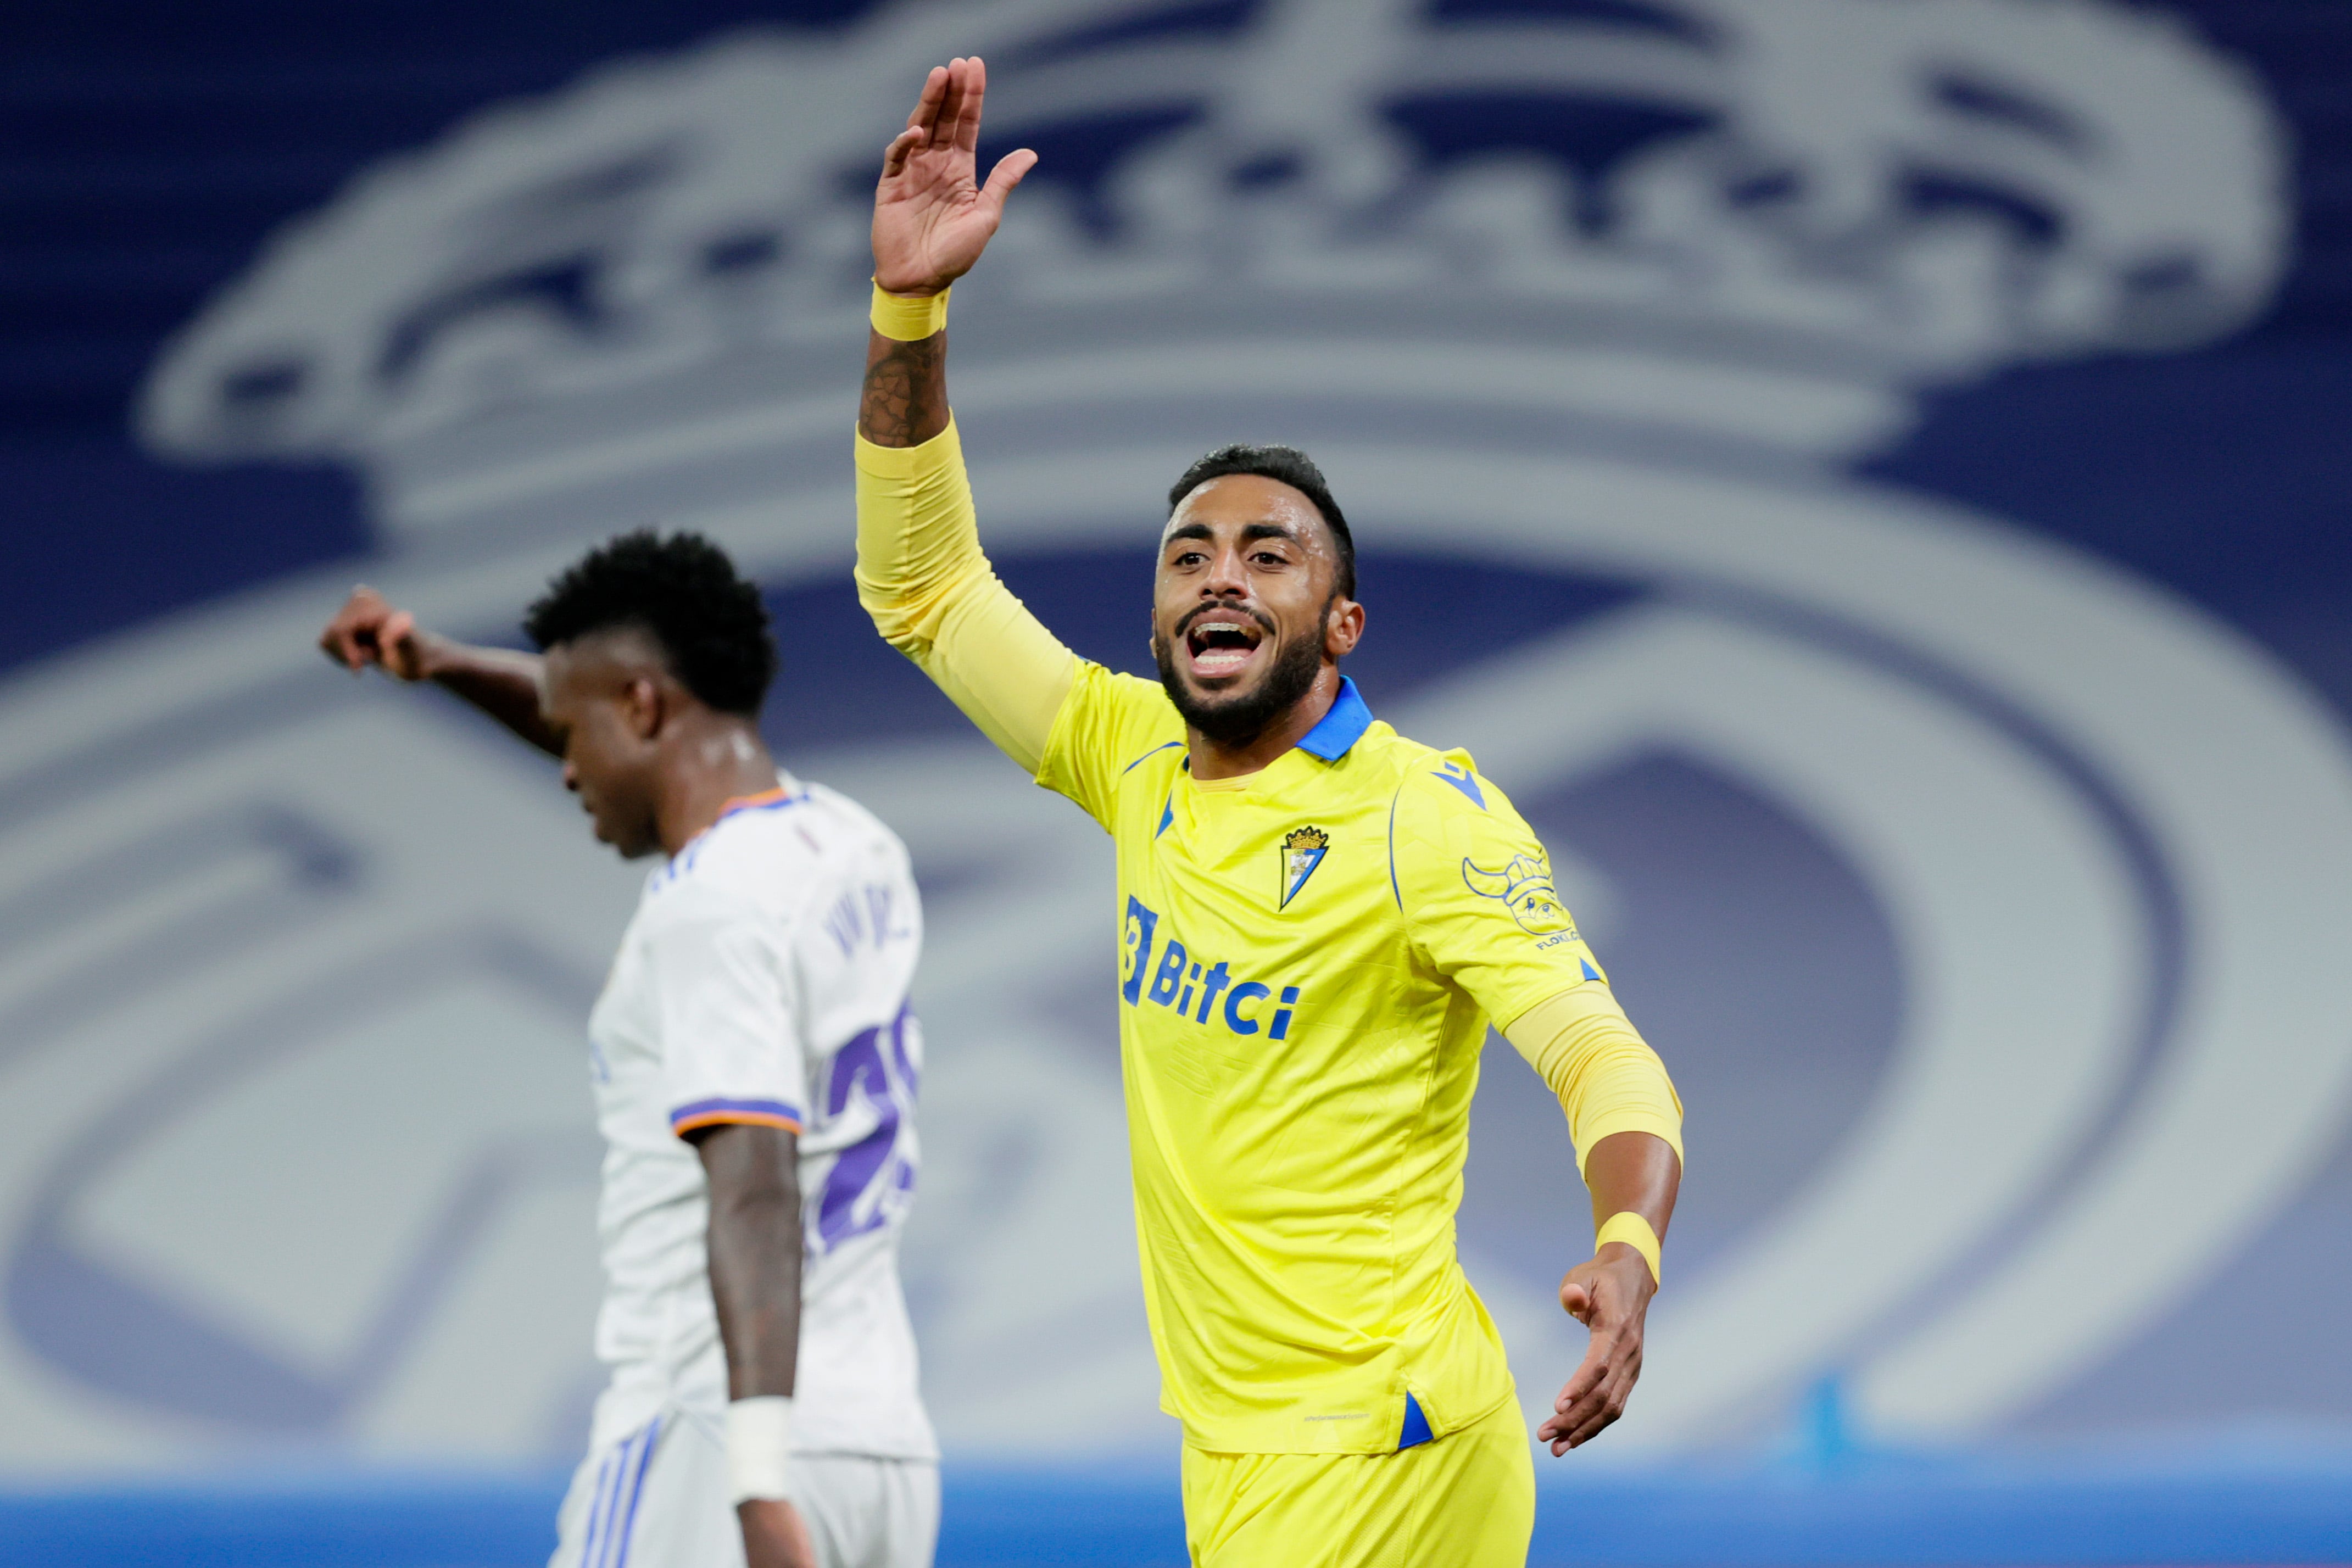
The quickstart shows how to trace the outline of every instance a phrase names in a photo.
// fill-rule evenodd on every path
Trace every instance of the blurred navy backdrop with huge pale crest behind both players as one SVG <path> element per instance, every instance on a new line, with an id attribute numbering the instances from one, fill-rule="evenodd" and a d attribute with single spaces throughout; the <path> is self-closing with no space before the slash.
<path id="1" fill-rule="evenodd" d="M 1486 891 L 1573 912 L 1682 1084 L 1628 1448 L 1823 1378 L 1905 1436 L 2352 1420 L 2331 7 L 113 12 L 153 28 L 42 24 L 7 110 L 0 1462 L 576 1446 L 635 872 L 310 639 L 355 576 L 513 639 L 644 520 L 760 574 L 771 738 L 922 870 L 946 1441 L 1167 1441 L 1108 851 L 849 590 L 870 165 L 971 52 L 1044 155 L 957 289 L 1007 578 L 1148 670 L 1167 482 L 1308 447 L 1359 689 L 1512 790 L 1552 877 Z M 1510 1051 L 1472 1150 L 1541 1392 L 1588 1218 Z"/>

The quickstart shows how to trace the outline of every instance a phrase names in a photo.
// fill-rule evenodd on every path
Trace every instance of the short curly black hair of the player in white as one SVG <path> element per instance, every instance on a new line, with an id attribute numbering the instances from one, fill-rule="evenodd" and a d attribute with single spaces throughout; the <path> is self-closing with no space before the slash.
<path id="1" fill-rule="evenodd" d="M 757 583 L 701 534 L 609 538 L 548 583 L 522 621 L 541 651 L 614 628 L 649 632 L 670 675 L 720 712 L 760 712 L 776 679 Z"/>

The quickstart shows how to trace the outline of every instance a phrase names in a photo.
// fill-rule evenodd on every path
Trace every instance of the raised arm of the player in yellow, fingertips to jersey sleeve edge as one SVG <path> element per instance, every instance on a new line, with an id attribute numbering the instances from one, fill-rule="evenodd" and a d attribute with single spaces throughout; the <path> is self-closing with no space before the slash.
<path id="1" fill-rule="evenodd" d="M 976 183 L 985 89 L 976 59 L 934 66 L 882 158 L 856 437 L 858 602 L 894 649 L 1035 773 L 1077 656 L 988 569 L 948 411 L 948 287 L 988 249 L 1004 197 L 1037 162 L 1009 153 Z"/>

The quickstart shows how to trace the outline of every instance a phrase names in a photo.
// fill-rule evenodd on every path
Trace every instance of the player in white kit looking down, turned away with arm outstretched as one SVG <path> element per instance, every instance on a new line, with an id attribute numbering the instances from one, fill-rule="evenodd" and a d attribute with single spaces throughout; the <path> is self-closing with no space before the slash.
<path id="1" fill-rule="evenodd" d="M 358 588 L 320 644 L 562 757 L 595 835 L 663 858 L 588 1018 L 612 1380 L 550 1568 L 927 1568 L 906 846 L 769 757 L 767 611 L 708 541 L 621 536 L 527 630 L 468 646 Z"/>

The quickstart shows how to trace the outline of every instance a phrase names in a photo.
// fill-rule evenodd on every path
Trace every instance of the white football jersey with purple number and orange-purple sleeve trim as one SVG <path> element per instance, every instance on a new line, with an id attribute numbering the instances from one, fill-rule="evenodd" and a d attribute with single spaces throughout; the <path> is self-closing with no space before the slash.
<path id="1" fill-rule="evenodd" d="M 612 1385 L 597 1446 L 663 1410 L 727 1403 L 708 1187 L 684 1133 L 753 1121 L 800 1133 L 793 1446 L 938 1458 L 898 1288 L 917 1171 L 920 947 L 898 837 L 790 776 L 647 877 L 588 1018 L 607 1143 L 597 1356 Z"/>

